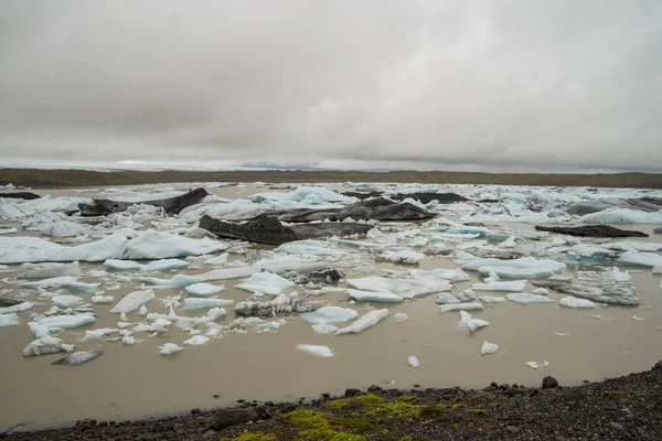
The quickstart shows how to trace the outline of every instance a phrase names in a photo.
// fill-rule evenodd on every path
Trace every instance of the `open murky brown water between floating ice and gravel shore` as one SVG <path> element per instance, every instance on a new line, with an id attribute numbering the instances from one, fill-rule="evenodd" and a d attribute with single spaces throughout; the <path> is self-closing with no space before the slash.
<path id="1" fill-rule="evenodd" d="M 244 197 L 256 191 L 265 189 L 212 189 L 214 194 L 223 197 Z M 72 195 L 71 191 L 57 194 Z M 79 194 L 85 195 L 73 195 Z M 528 225 L 508 227 L 531 229 Z M 636 228 L 652 230 L 652 226 L 637 225 Z M 661 241 L 662 237 L 651 236 L 644 240 Z M 369 258 L 365 260 L 371 262 Z M 103 269 L 100 265 L 83 267 L 85 270 Z M 377 268 L 396 267 L 378 263 Z M 449 259 L 426 258 L 419 268 L 456 266 Z M 2 276 L 14 277 L 13 273 Z M 170 277 L 172 273 L 156 276 Z M 476 275 L 471 276 L 471 281 L 456 283 L 453 291 L 474 282 Z M 161 356 L 158 354 L 159 345 L 167 342 L 181 345 L 190 337 L 172 326 L 168 333 L 154 337 L 147 337 L 147 334 L 137 336 L 145 342 L 136 346 L 77 343 L 78 351 L 103 348 L 105 353 L 92 363 L 72 367 L 51 365 L 61 355 L 21 356 L 32 340 L 25 326 L 28 313 L 21 313 L 20 325 L 0 329 L 3 355 L 0 429 L 20 423 L 26 424 L 26 428 L 54 426 L 83 418 L 132 419 L 227 405 L 239 398 L 287 400 L 340 392 L 348 387 L 387 386 L 392 381 L 395 381 L 393 387 L 402 388 L 410 388 L 414 384 L 424 387 L 481 387 L 491 381 L 537 385 L 544 376 L 553 375 L 562 385 L 569 385 L 644 370 L 662 358 L 662 332 L 659 331 L 662 326 L 661 277 L 652 276 L 650 270 L 632 276 L 641 298 L 639 308 L 574 310 L 554 303 L 520 305 L 505 302 L 474 312 L 473 315 L 488 320 L 490 326 L 470 334 L 457 327 L 457 312 L 439 313 L 435 295 L 429 295 L 397 305 L 375 304 L 376 308 L 388 308 L 392 314 L 404 312 L 409 318 L 402 323 L 386 320 L 359 335 L 316 334 L 309 323 L 295 315 L 277 333 L 227 334 L 202 346 L 186 346 L 175 356 Z M 227 291 L 218 297 L 235 302 L 245 299 L 247 293 L 233 288 L 235 283 L 236 280 L 226 281 Z M 2 288 L 12 287 L 15 288 L 2 284 Z M 121 290 L 107 291 L 107 294 L 115 295 L 117 301 L 120 294 L 138 287 L 136 281 Z M 156 291 L 159 298 L 164 298 L 182 290 Z M 560 299 L 563 295 L 551 297 Z M 36 294 L 29 300 L 34 299 Z M 329 293 L 320 299 L 346 305 L 343 293 Z M 49 302 L 44 301 L 35 311 L 49 308 Z M 60 336 L 67 343 L 74 343 L 85 330 L 115 327 L 119 316 L 109 314 L 110 308 L 95 305 L 96 323 L 63 332 Z M 353 308 L 362 313 L 370 306 L 356 304 Z M 148 309 L 150 312 L 164 311 L 157 300 L 150 302 Z M 232 306 L 227 310 L 229 316 L 225 322 L 233 319 Z M 595 314 L 615 320 L 589 318 Z M 644 320 L 631 320 L 634 314 Z M 202 315 L 202 312 L 188 315 Z M 130 321 L 139 319 L 136 313 L 129 315 Z M 559 336 L 555 332 L 569 335 Z M 499 353 L 481 356 L 483 341 L 499 344 Z M 335 356 L 311 356 L 296 349 L 295 346 L 301 343 L 328 345 Z M 413 369 L 407 365 L 409 355 L 420 359 L 419 368 Z M 548 361 L 551 365 L 534 370 L 525 365 L 532 361 L 541 364 Z M 220 395 L 220 398 L 213 398 L 214 395 Z"/>

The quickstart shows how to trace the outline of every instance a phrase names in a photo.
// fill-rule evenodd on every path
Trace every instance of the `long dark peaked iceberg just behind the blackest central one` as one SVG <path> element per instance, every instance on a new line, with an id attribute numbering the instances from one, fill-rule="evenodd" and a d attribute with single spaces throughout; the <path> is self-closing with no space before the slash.
<path id="1" fill-rule="evenodd" d="M 428 212 L 408 203 L 397 203 L 384 197 L 360 201 L 342 208 L 322 208 L 322 209 L 288 209 L 274 212 L 271 215 L 282 222 L 306 223 L 312 220 L 329 219 L 332 222 L 344 220 L 348 217 L 353 219 L 376 219 L 376 220 L 419 220 L 435 216 L 435 213 Z"/>

